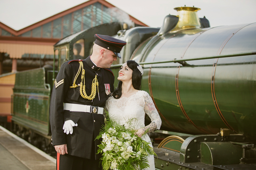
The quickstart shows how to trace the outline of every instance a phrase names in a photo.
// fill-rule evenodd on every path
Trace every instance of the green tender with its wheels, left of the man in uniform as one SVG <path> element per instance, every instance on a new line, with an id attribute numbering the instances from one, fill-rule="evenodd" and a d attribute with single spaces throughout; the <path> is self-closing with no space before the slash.
<path id="1" fill-rule="evenodd" d="M 17 135 L 50 153 L 49 102 L 53 70 L 38 68 L 16 73 L 12 120 Z"/>

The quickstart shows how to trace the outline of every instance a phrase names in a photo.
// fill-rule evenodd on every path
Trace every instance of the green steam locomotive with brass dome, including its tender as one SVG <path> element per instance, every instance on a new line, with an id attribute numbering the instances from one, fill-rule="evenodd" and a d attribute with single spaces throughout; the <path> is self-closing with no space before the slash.
<path id="1" fill-rule="evenodd" d="M 178 15 L 167 15 L 161 28 L 109 23 L 70 35 L 54 45 L 56 69 L 16 73 L 17 134 L 53 152 L 53 80 L 63 62 L 91 54 L 98 33 L 127 42 L 111 67 L 116 77 L 127 60 L 143 67 L 142 90 L 162 119 L 150 134 L 156 169 L 256 169 L 256 23 L 210 27 L 200 8 L 174 9 Z"/>

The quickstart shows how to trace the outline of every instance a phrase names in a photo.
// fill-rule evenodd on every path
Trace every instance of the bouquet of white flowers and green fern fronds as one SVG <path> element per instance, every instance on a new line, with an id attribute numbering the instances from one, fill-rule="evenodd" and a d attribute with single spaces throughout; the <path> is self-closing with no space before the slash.
<path id="1" fill-rule="evenodd" d="M 136 130 L 118 125 L 106 115 L 105 126 L 96 139 L 102 138 L 97 154 L 102 153 L 103 170 L 149 168 L 148 155 L 156 155 L 149 143 L 134 135 Z"/>

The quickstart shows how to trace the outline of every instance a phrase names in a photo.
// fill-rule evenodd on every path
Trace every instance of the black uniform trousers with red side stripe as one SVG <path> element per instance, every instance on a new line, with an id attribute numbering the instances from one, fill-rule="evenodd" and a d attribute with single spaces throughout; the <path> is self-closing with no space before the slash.
<path id="1" fill-rule="evenodd" d="M 73 155 L 57 154 L 57 170 L 102 170 L 99 159 L 86 159 Z"/>

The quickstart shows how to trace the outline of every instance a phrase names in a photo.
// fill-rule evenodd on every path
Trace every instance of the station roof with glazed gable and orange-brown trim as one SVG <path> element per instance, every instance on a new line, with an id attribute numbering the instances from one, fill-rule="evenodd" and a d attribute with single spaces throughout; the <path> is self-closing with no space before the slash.
<path id="1" fill-rule="evenodd" d="M 0 53 L 15 59 L 24 54 L 53 57 L 53 45 L 60 39 L 100 24 L 118 22 L 118 11 L 121 10 L 105 0 L 90 0 L 18 31 L 0 22 Z M 130 15 L 129 18 L 135 25 L 147 26 Z"/>

